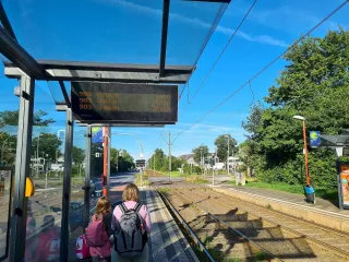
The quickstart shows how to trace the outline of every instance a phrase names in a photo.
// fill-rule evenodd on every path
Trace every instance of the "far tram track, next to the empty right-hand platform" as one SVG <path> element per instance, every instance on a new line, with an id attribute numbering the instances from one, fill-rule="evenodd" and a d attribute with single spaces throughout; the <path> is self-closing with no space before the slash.
<path id="1" fill-rule="evenodd" d="M 330 228 L 207 189 L 171 189 L 169 196 L 200 209 L 279 260 L 349 261 L 349 237 Z"/>

